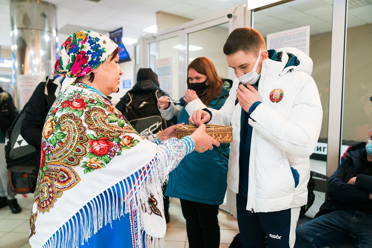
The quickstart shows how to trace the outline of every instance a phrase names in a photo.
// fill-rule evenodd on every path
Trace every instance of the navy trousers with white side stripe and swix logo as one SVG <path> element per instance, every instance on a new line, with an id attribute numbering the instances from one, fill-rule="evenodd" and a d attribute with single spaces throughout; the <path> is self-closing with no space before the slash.
<path id="1" fill-rule="evenodd" d="M 252 213 L 246 209 L 247 197 L 239 193 L 236 195 L 236 208 L 242 248 L 289 248 L 294 244 L 299 207 Z"/>

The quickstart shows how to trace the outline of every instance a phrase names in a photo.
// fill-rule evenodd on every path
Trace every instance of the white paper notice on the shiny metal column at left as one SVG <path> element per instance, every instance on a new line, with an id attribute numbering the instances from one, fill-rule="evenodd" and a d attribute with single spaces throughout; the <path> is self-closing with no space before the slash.
<path id="1" fill-rule="evenodd" d="M 23 106 L 25 106 L 25 104 L 28 102 L 28 100 L 32 96 L 33 91 L 40 82 L 41 75 L 17 74 L 16 85 L 18 89 L 20 109 L 22 109 Z"/>

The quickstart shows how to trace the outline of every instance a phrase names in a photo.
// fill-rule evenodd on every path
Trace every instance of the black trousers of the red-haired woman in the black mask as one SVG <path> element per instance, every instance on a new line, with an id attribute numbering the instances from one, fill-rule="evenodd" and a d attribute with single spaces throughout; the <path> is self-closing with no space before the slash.
<path id="1" fill-rule="evenodd" d="M 218 248 L 218 205 L 180 199 L 190 248 Z"/>

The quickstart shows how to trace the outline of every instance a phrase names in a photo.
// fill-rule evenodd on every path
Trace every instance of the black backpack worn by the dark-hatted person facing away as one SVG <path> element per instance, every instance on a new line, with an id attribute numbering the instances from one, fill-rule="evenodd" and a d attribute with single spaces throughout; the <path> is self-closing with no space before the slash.
<path id="1" fill-rule="evenodd" d="M 127 95 L 129 99 L 123 114 L 141 136 L 158 133 L 167 128 L 167 123 L 158 109 L 158 98 L 161 96 L 159 90 L 128 92 Z"/>

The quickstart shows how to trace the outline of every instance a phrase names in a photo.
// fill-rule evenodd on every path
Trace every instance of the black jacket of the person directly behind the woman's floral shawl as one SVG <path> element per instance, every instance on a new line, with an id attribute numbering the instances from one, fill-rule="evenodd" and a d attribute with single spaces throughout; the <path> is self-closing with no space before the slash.
<path id="1" fill-rule="evenodd" d="M 36 175 L 38 175 L 40 167 L 41 133 L 49 109 L 58 95 L 61 79 L 63 79 L 63 77 L 58 77 L 54 81 L 48 80 L 47 78 L 46 82 L 41 82 L 36 86 L 36 89 L 33 91 L 32 96 L 28 101 L 25 118 L 22 121 L 21 135 L 23 139 L 32 146 L 35 146 L 38 151 L 38 155 L 35 159 L 34 170 Z M 47 85 L 46 89 L 45 85 Z M 36 186 L 36 182 L 34 186 Z M 30 189 L 31 192 L 33 190 L 35 190 L 35 187 Z"/>

